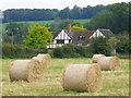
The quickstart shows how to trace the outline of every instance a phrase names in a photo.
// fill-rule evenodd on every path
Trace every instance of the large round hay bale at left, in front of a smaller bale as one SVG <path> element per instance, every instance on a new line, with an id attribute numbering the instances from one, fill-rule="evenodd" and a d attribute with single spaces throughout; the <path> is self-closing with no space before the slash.
<path id="1" fill-rule="evenodd" d="M 9 72 L 11 82 L 37 82 L 43 78 L 41 63 L 38 60 L 15 60 Z"/>

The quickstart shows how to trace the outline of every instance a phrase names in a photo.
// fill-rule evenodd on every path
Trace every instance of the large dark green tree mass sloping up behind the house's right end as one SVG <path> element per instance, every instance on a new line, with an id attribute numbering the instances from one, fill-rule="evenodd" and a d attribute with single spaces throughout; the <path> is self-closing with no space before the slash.
<path id="1" fill-rule="evenodd" d="M 84 24 L 88 29 L 109 28 L 115 34 L 129 30 L 129 4 L 115 3 L 109 10 L 98 13 L 90 23 Z"/>

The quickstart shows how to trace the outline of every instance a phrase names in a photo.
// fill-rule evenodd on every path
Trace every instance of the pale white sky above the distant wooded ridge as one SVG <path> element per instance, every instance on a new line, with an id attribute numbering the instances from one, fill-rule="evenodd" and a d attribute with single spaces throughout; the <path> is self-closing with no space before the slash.
<path id="1" fill-rule="evenodd" d="M 72 9 L 74 5 L 87 7 L 97 4 L 111 4 L 117 2 L 129 2 L 131 0 L 0 0 L 0 10 L 8 9 L 58 9 L 67 7 Z"/>

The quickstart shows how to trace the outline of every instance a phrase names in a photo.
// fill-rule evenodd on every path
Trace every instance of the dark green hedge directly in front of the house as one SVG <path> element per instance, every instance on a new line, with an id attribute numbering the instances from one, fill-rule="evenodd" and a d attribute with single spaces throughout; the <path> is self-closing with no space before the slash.
<path id="1" fill-rule="evenodd" d="M 50 52 L 52 58 L 91 58 L 94 49 L 87 46 L 64 45 Z"/>

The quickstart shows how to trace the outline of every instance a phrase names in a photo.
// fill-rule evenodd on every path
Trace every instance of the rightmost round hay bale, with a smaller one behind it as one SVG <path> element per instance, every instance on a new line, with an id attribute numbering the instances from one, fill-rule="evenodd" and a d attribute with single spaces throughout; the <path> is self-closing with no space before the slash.
<path id="1" fill-rule="evenodd" d="M 117 57 L 102 57 L 98 64 L 102 71 L 116 71 L 120 68 L 119 58 Z"/>

